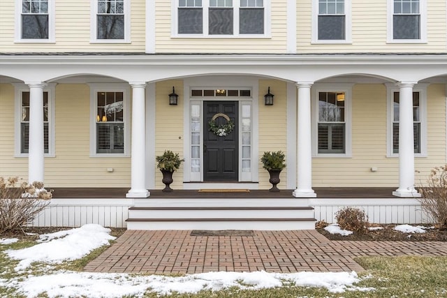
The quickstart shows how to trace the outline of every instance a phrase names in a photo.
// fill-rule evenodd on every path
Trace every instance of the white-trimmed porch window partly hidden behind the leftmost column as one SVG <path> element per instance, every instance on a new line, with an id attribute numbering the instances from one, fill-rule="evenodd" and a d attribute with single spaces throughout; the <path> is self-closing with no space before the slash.
<path id="1" fill-rule="evenodd" d="M 17 84 L 15 89 L 15 156 L 29 154 L 29 88 Z M 54 87 L 43 90 L 43 145 L 45 156 L 54 156 Z"/>

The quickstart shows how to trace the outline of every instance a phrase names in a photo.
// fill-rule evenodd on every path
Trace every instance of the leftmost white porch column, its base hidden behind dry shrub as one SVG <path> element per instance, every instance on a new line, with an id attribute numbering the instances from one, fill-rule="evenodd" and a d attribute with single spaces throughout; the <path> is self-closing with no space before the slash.
<path id="1" fill-rule="evenodd" d="M 29 86 L 29 151 L 28 181 L 44 182 L 43 142 L 43 87 L 44 83 L 27 83 Z"/>

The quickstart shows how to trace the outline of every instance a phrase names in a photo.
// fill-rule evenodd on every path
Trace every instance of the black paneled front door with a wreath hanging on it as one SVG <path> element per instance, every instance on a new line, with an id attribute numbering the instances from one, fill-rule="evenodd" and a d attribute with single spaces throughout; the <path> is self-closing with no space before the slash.
<path id="1" fill-rule="evenodd" d="M 237 105 L 203 103 L 203 181 L 238 181 Z"/>

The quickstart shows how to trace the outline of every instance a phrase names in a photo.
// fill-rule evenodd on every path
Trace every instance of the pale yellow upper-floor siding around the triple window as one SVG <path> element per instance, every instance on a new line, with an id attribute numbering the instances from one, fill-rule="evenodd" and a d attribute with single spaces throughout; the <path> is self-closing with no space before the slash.
<path id="1" fill-rule="evenodd" d="M 170 4 L 170 1 L 156 1 L 156 52 L 286 52 L 286 0 L 272 1 L 272 38 L 171 38 Z"/>

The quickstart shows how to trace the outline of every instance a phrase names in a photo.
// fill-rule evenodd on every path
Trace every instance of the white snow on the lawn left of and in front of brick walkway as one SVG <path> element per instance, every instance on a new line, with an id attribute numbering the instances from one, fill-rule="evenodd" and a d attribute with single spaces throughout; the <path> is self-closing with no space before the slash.
<path id="1" fill-rule="evenodd" d="M 75 260 L 115 237 L 109 229 L 100 225 L 83 225 L 81 228 L 45 234 L 41 243 L 30 248 L 8 250 L 10 258 L 20 260 L 16 270 L 25 269 L 32 262 L 54 264 Z M 48 297 L 141 297 L 147 290 L 158 294 L 171 292 L 195 293 L 200 290 L 221 290 L 230 287 L 240 289 L 274 288 L 293 282 L 295 285 L 327 288 L 330 292 L 345 290 L 374 290 L 358 288 L 360 281 L 356 272 L 298 272 L 293 274 L 255 272 L 208 272 L 172 277 L 159 275 L 101 274 L 75 271 L 54 271 L 43 265 L 45 274 L 1 278 L 0 287 L 15 288 L 27 297 L 38 297 L 46 292 Z M 0 269 L 1 270 L 1 269 Z"/>

